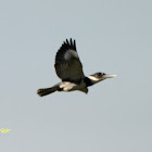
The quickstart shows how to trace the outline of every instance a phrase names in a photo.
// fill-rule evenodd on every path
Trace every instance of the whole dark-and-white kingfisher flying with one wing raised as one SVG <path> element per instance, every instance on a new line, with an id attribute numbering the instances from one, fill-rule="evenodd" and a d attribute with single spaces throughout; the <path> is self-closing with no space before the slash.
<path id="1" fill-rule="evenodd" d="M 85 93 L 88 92 L 88 87 L 104 80 L 106 78 L 115 77 L 116 75 L 107 75 L 104 73 L 96 73 L 86 77 L 83 72 L 83 65 L 78 58 L 76 50 L 76 41 L 66 39 L 59 49 L 55 56 L 55 72 L 62 79 L 61 83 L 51 88 L 38 89 L 37 93 L 40 97 L 50 94 L 54 91 L 75 91 L 79 90 Z"/>

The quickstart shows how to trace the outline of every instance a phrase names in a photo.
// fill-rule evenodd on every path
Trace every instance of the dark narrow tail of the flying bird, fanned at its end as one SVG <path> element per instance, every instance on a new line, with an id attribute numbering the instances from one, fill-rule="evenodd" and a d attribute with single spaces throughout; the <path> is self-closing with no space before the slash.
<path id="1" fill-rule="evenodd" d="M 58 91 L 58 89 L 59 89 L 59 86 L 53 86 L 51 88 L 42 88 L 42 89 L 38 89 L 37 93 L 40 97 L 43 97 L 43 96 L 47 96 L 47 94 L 50 94 L 50 93 Z"/>

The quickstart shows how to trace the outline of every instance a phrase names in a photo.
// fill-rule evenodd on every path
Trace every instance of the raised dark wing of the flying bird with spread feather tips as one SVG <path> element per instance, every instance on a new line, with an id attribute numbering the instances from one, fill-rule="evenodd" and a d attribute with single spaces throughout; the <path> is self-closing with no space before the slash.
<path id="1" fill-rule="evenodd" d="M 55 56 L 55 72 L 62 80 L 79 80 L 84 78 L 83 65 L 76 51 L 76 41 L 63 42 Z"/>

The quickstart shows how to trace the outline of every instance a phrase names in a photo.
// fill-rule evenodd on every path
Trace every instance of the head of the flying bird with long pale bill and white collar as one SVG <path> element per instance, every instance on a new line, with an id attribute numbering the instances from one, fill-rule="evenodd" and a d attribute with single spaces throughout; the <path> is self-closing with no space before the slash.
<path id="1" fill-rule="evenodd" d="M 93 75 L 88 76 L 88 78 L 91 80 L 92 84 L 97 84 L 101 80 L 104 80 L 106 78 L 112 78 L 112 77 L 116 77 L 116 75 L 109 75 L 105 73 L 96 73 Z"/>

